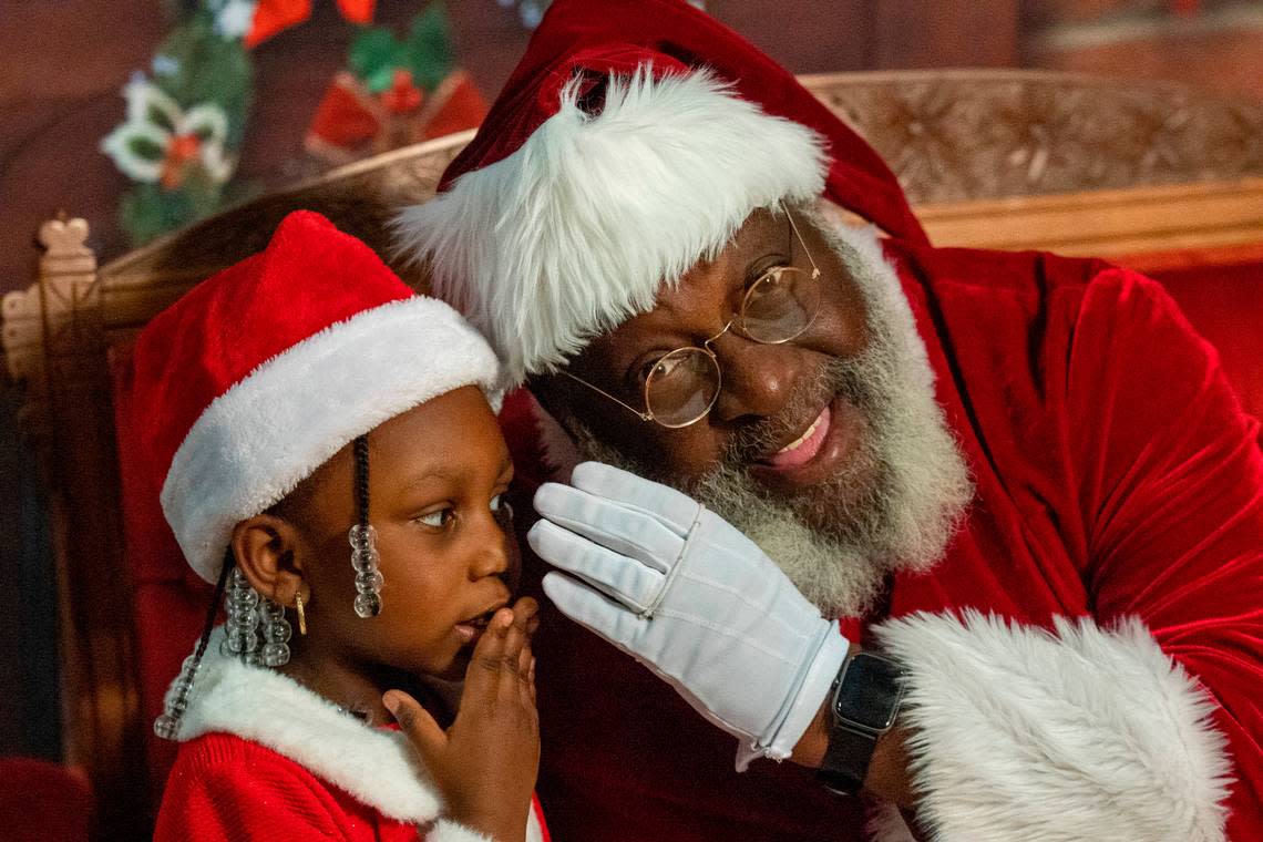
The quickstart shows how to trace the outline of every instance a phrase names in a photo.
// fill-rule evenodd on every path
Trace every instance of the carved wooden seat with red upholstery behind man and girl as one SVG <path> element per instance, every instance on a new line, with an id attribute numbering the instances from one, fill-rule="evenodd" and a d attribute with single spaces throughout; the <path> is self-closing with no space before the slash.
<path id="1" fill-rule="evenodd" d="M 1263 106 L 1018 71 L 806 83 L 892 164 L 935 242 L 1095 254 L 1157 273 L 1263 413 Z M 320 211 L 385 254 L 383 222 L 428 198 L 471 136 L 338 169 L 104 266 L 82 220 L 49 221 L 38 280 L 4 298 L 5 369 L 25 390 L 20 420 L 51 491 L 66 761 L 96 790 L 104 838 L 148 827 L 169 760 L 149 723 L 208 601 L 154 526 L 157 490 L 115 424 L 131 409 L 128 342 L 198 280 L 260 250 L 292 210 Z"/>

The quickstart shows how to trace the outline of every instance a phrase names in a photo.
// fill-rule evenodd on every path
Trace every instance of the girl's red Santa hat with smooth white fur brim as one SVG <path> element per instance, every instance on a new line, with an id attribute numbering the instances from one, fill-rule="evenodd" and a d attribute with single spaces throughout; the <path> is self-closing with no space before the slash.
<path id="1" fill-rule="evenodd" d="M 211 582 L 237 521 L 357 436 L 466 385 L 499 405 L 486 341 L 307 211 L 153 319 L 133 355 L 163 513 Z"/>

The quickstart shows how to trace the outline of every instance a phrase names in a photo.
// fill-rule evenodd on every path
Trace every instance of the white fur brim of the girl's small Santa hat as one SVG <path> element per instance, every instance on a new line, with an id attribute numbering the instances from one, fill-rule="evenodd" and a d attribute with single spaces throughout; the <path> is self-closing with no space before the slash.
<path id="1" fill-rule="evenodd" d="M 268 360 L 211 403 L 167 471 L 163 513 L 184 558 L 213 582 L 240 520 L 356 436 L 466 385 L 499 409 L 495 353 L 434 298 L 365 311 Z"/>

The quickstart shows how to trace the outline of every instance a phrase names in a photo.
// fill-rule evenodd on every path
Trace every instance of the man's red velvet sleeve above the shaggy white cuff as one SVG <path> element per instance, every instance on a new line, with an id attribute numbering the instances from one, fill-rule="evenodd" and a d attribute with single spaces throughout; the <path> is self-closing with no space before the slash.
<path id="1" fill-rule="evenodd" d="M 1258 422 L 1171 298 L 1128 271 L 1087 287 L 1067 371 L 1095 616 L 1139 616 L 1210 692 L 1236 779 L 1229 838 L 1263 838 Z"/>

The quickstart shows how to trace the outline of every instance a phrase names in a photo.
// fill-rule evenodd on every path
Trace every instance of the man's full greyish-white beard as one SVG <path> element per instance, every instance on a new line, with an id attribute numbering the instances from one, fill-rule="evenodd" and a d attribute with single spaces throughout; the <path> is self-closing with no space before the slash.
<path id="1" fill-rule="evenodd" d="M 808 216 L 868 308 L 868 347 L 836 360 L 823 375 L 868 420 L 837 475 L 797 495 L 772 496 L 729 462 L 682 483 L 625 457 L 573 417 L 566 418 L 566 441 L 541 409 L 541 433 L 553 467 L 568 475 L 578 456 L 678 487 L 749 535 L 825 616 L 858 616 L 873 607 L 889 574 L 926 571 L 942 557 L 974 489 L 935 403 L 925 343 L 875 232 L 818 212 Z M 796 394 L 820 394 L 820 388 Z M 860 477 L 864 487 L 856 494 Z"/>

